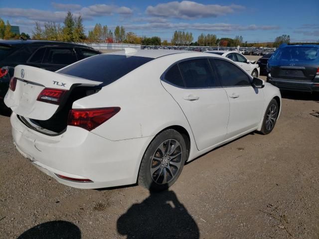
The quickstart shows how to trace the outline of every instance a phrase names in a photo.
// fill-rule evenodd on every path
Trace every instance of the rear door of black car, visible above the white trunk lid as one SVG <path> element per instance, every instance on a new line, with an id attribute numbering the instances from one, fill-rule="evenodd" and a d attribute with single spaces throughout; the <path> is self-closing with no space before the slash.
<path id="1" fill-rule="evenodd" d="M 47 47 L 41 68 L 57 71 L 78 61 L 73 47 Z"/>

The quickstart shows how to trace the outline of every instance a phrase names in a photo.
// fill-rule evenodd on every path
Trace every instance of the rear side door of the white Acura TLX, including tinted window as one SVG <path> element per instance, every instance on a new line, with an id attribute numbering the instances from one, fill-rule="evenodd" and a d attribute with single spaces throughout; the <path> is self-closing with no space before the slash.
<path id="1" fill-rule="evenodd" d="M 207 58 L 179 62 L 161 79 L 186 116 L 198 150 L 225 140 L 229 101 Z"/>

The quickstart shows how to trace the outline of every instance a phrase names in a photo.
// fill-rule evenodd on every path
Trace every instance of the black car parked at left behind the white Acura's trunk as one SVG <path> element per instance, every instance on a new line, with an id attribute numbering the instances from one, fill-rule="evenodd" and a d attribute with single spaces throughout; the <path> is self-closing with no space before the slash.
<path id="1" fill-rule="evenodd" d="M 57 71 L 89 56 L 101 54 L 91 47 L 57 41 L 3 40 L 0 41 L 0 107 L 8 90 L 16 65 Z"/>

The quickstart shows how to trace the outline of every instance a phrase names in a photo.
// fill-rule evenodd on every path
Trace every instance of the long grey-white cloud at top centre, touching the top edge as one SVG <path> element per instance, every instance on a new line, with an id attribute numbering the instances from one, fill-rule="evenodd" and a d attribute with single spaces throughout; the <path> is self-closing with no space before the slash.
<path id="1" fill-rule="evenodd" d="M 156 6 L 148 6 L 146 13 L 152 16 L 172 17 L 181 19 L 195 19 L 203 17 L 216 17 L 233 13 L 235 10 L 242 10 L 241 5 L 217 5 L 201 4 L 195 1 L 171 1 L 160 3 Z"/>

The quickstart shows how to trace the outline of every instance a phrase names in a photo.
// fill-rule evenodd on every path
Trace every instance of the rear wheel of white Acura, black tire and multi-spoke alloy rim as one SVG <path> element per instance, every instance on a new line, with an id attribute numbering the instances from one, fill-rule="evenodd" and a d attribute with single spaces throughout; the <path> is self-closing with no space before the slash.
<path id="1" fill-rule="evenodd" d="M 167 152 L 167 144 L 170 150 L 173 150 L 172 152 Z M 185 140 L 179 132 L 174 129 L 160 132 L 150 143 L 142 158 L 138 177 L 139 185 L 150 191 L 166 190 L 179 177 L 187 154 Z"/>

